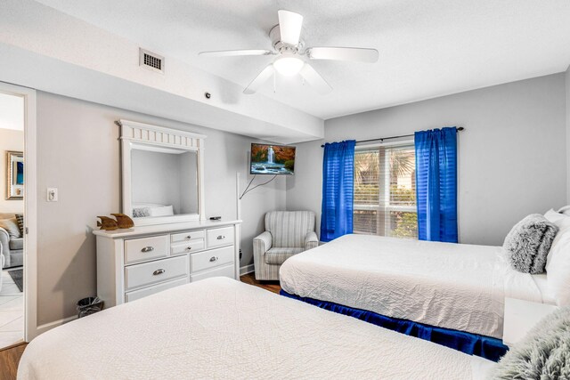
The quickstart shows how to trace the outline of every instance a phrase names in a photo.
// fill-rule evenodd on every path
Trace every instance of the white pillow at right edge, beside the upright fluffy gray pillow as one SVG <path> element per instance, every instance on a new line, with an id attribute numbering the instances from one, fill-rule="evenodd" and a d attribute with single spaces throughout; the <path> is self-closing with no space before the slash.
<path id="1" fill-rule="evenodd" d="M 570 305 L 570 218 L 559 222 L 546 262 L 546 278 L 558 306 Z"/>

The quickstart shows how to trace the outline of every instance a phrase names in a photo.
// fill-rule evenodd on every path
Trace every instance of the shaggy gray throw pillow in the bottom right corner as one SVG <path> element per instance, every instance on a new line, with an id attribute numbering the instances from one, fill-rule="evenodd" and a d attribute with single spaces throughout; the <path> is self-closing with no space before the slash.
<path id="1" fill-rule="evenodd" d="M 570 378 L 570 307 L 552 312 L 502 357 L 493 379 Z"/>

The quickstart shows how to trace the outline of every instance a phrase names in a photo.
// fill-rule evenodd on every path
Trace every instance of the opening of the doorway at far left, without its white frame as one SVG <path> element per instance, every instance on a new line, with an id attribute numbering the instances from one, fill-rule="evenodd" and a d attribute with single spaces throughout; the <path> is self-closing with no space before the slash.
<path id="1" fill-rule="evenodd" d="M 0 92 L 0 348 L 24 340 L 25 98 Z"/>

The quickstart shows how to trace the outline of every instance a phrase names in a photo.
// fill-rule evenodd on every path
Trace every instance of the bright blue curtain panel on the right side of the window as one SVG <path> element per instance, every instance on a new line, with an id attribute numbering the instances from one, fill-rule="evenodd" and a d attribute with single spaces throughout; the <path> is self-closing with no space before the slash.
<path id="1" fill-rule="evenodd" d="M 418 239 L 457 243 L 457 130 L 416 132 Z"/>

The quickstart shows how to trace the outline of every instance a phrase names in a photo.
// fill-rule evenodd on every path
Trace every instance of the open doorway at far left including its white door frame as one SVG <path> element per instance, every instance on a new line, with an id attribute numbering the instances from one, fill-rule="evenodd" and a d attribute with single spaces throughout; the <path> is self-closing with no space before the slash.
<path id="1" fill-rule="evenodd" d="M 40 332 L 36 187 L 36 91 L 0 82 L 0 349 Z"/>

